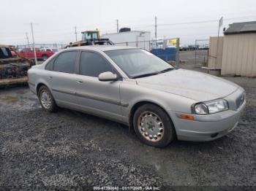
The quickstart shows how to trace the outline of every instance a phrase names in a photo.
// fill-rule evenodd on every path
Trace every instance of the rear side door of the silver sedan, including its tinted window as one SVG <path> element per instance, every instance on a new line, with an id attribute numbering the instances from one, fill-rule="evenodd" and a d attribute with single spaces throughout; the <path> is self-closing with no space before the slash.
<path id="1" fill-rule="evenodd" d="M 78 104 L 75 97 L 77 61 L 78 51 L 66 51 L 52 59 L 45 68 L 49 70 L 46 78 L 57 104 L 64 106 Z"/>

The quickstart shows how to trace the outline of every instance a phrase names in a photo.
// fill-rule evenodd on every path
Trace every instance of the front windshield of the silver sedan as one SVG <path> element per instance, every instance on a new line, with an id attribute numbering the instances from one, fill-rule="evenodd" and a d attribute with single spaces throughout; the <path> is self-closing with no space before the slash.
<path id="1" fill-rule="evenodd" d="M 147 77 L 173 69 L 169 63 L 141 49 L 109 50 L 105 53 L 129 78 Z"/>

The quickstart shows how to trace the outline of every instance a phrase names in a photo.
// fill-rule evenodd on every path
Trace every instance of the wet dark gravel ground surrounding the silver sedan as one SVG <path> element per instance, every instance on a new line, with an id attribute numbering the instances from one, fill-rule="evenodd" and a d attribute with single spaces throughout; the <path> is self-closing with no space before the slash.
<path id="1" fill-rule="evenodd" d="M 116 122 L 43 112 L 27 86 L 1 88 L 0 190 L 256 186 L 256 79 L 227 79 L 246 90 L 238 127 L 216 141 L 174 141 L 163 149 L 140 143 Z"/>

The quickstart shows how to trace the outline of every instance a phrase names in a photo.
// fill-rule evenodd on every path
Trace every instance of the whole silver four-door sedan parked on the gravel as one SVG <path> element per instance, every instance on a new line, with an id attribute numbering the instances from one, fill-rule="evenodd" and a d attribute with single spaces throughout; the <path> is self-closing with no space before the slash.
<path id="1" fill-rule="evenodd" d="M 42 109 L 75 109 L 129 125 L 144 143 L 211 141 L 238 124 L 242 87 L 197 71 L 176 69 L 135 47 L 62 50 L 29 69 Z"/>

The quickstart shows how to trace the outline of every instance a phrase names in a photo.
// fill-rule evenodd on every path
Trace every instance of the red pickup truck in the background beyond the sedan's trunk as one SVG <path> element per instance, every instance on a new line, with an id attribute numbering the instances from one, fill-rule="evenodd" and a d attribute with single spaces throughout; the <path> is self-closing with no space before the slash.
<path id="1" fill-rule="evenodd" d="M 54 52 L 51 48 L 36 48 L 37 59 L 42 59 L 43 61 L 45 61 L 53 54 Z M 24 48 L 20 51 L 20 55 L 23 58 L 34 58 L 34 50 L 33 48 Z"/>

